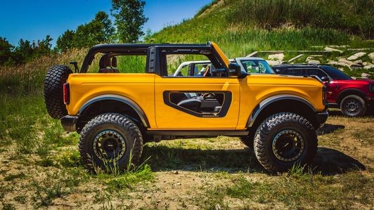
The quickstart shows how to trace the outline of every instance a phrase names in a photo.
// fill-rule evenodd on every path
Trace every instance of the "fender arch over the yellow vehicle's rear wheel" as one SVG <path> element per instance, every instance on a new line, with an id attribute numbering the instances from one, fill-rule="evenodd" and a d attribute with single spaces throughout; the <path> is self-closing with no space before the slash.
<path id="1" fill-rule="evenodd" d="M 141 107 L 134 102 L 134 100 L 115 94 L 96 96 L 84 103 L 78 111 L 79 122 L 81 124 L 79 127 L 82 129 L 82 126 L 84 126 L 89 119 L 97 114 L 103 114 L 105 112 L 127 114 L 136 121 L 138 126 L 142 126 L 143 128 L 149 127 L 146 114 L 143 112 Z"/>

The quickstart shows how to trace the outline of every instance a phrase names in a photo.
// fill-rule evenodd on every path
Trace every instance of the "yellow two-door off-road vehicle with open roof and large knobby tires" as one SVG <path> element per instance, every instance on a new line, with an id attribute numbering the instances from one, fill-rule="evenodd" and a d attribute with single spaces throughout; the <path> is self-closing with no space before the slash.
<path id="1" fill-rule="evenodd" d="M 172 63 L 198 55 L 214 71 L 168 76 Z M 129 63 L 132 56 L 143 56 L 142 73 L 122 73 L 139 67 Z M 104 44 L 89 50 L 80 70 L 74 64 L 75 73 L 64 65 L 49 69 L 44 98 L 51 117 L 80 133 L 90 170 L 136 164 L 148 141 L 221 135 L 253 147 L 265 169 L 285 171 L 314 158 L 315 130 L 328 117 L 321 81 L 241 72 L 213 42 Z"/>

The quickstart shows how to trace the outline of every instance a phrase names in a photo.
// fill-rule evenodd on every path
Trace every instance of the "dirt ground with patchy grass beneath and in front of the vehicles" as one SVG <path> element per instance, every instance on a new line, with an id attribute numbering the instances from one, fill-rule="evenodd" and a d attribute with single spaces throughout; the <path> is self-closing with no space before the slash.
<path id="1" fill-rule="evenodd" d="M 330 113 L 333 115 L 318 131 L 317 156 L 309 172 L 301 175 L 270 174 L 238 138 L 223 136 L 148 143 L 143 157 L 150 157 L 150 173 L 139 171 L 127 176 L 87 173 L 79 160 L 74 160 L 75 146 L 60 147 L 51 155 L 50 164 L 41 162 L 37 155 L 15 155 L 13 145 L 1 147 L 0 206 L 3 209 L 373 209 L 374 118 L 352 119 L 342 117 L 337 111 Z M 57 158 L 65 153 L 73 159 L 65 161 L 70 164 L 61 164 L 65 162 Z M 152 178 L 141 178 L 142 173 Z M 127 185 L 127 181 L 131 184 Z M 311 183 L 313 188 L 309 186 Z M 288 199 L 278 195 L 287 195 Z"/>

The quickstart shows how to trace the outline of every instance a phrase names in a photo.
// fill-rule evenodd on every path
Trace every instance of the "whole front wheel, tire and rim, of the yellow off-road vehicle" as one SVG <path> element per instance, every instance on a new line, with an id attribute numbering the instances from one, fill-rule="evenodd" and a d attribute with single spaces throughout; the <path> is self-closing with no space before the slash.
<path id="1" fill-rule="evenodd" d="M 316 155 L 318 140 L 311 123 L 295 113 L 273 114 L 254 134 L 254 154 L 268 171 L 287 171 Z"/>

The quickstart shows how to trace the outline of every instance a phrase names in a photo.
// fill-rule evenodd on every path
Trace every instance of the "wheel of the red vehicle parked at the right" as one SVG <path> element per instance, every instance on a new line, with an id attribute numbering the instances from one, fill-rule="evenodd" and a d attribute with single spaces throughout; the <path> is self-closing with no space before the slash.
<path id="1" fill-rule="evenodd" d="M 345 96 L 340 103 L 340 110 L 346 117 L 360 117 L 366 112 L 365 101 L 360 96 Z"/>

